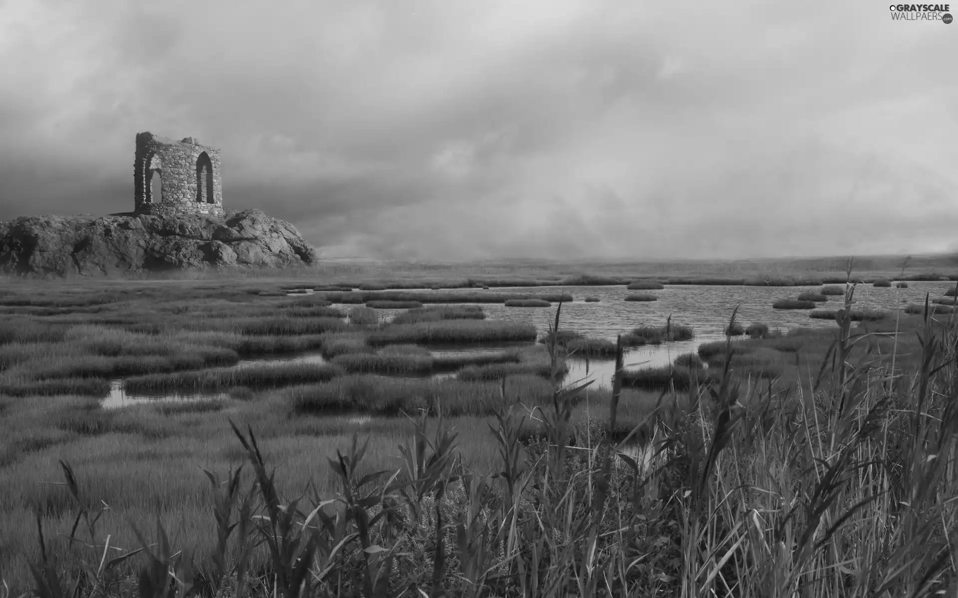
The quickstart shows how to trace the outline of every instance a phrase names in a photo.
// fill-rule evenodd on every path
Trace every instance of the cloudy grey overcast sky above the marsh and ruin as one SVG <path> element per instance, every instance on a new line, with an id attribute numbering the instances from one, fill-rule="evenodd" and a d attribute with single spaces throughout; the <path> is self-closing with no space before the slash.
<path id="1" fill-rule="evenodd" d="M 0 220 L 131 210 L 149 130 L 327 256 L 956 250 L 956 62 L 878 2 L 0 0 Z"/>

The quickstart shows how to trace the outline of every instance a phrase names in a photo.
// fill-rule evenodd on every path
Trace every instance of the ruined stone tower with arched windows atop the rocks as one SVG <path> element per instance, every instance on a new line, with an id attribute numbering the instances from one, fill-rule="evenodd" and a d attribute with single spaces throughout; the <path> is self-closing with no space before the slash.
<path id="1" fill-rule="evenodd" d="M 224 213 L 219 150 L 200 145 L 193 137 L 174 142 L 149 132 L 137 133 L 133 184 L 138 213 Z"/>

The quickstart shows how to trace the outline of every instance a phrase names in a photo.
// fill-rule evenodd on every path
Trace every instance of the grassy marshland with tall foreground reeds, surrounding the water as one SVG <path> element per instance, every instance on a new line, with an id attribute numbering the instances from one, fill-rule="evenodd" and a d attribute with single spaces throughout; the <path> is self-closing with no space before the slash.
<path id="1" fill-rule="evenodd" d="M 846 295 L 833 328 L 755 322 L 741 340 L 730 314 L 736 339 L 593 389 L 562 357 L 621 348 L 564 333 L 560 314 L 536 346 L 433 356 L 417 343 L 540 335 L 476 307 L 383 323 L 261 282 L 0 291 L 11 596 L 955 591 L 950 306 L 855 319 Z M 347 282 L 389 287 L 309 284 Z M 234 366 L 302 351 L 330 363 Z M 433 371 L 454 376 L 403 377 Z M 216 394 L 104 410 L 117 377 Z"/>

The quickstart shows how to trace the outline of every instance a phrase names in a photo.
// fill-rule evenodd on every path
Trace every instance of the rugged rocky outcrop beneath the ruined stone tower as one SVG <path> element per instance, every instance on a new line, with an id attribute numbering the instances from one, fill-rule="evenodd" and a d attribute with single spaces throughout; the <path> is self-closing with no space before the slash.
<path id="1" fill-rule="evenodd" d="M 123 276 L 150 271 L 316 261 L 294 226 L 261 210 L 225 216 L 24 216 L 0 222 L 0 272 L 32 277 Z"/>

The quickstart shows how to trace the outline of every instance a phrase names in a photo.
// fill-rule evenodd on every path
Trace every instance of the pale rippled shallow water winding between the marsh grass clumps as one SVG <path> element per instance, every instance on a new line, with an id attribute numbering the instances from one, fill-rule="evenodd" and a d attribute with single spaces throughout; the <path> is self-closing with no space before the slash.
<path id="1" fill-rule="evenodd" d="M 909 288 L 873 287 L 859 285 L 855 291 L 855 309 L 899 309 L 904 303 L 924 302 L 925 293 L 932 299 L 944 295 L 954 282 L 909 282 Z M 739 307 L 737 320 L 743 325 L 752 321 L 761 321 L 770 328 L 787 331 L 798 326 L 833 327 L 834 321 L 809 318 L 809 310 L 773 309 L 776 299 L 794 299 L 805 291 L 816 291 L 819 286 L 810 287 L 754 287 L 754 286 L 712 286 L 712 285 L 673 285 L 658 291 L 641 291 L 658 297 L 656 301 L 626 301 L 625 297 L 639 291 L 628 291 L 624 286 L 565 286 L 565 287 L 521 287 L 491 289 L 488 293 L 522 294 L 558 294 L 568 293 L 573 301 L 562 304 L 559 329 L 573 330 L 585 336 L 615 341 L 616 335 L 640 325 L 664 325 L 672 316 L 673 323 L 690 325 L 695 329 L 696 338 L 692 341 L 646 345 L 627 350 L 625 365 L 627 368 L 668 365 L 682 353 L 696 351 L 701 343 L 719 341 L 724 338 L 723 330 L 728 325 L 732 311 Z M 417 291 L 417 293 L 428 291 Z M 482 291 L 476 291 L 482 292 Z M 586 302 L 586 297 L 600 299 L 598 302 Z M 842 298 L 833 297 L 820 303 L 819 308 L 836 309 Z M 354 305 L 337 305 L 348 311 Z M 544 334 L 551 321 L 555 319 L 556 306 L 551 307 L 506 307 L 501 303 L 482 303 L 489 320 L 528 321 L 536 325 L 539 335 Z M 402 310 L 380 310 L 386 321 Z M 429 346 L 433 355 L 455 355 L 466 352 L 490 352 L 528 346 L 534 343 L 482 343 L 482 344 L 444 344 Z M 318 351 L 308 351 L 285 356 L 269 356 L 242 360 L 235 367 L 244 367 L 263 363 L 304 363 L 324 364 L 326 360 Z M 611 386 L 615 362 L 611 359 L 578 359 L 568 361 L 569 373 L 566 382 L 592 380 L 593 387 Z M 433 374 L 432 378 L 454 377 L 455 373 Z M 227 399 L 226 393 L 206 394 L 127 394 L 122 380 L 111 383 L 109 395 L 103 399 L 103 408 L 111 409 L 129 405 L 155 403 L 157 401 L 192 401 Z"/>

